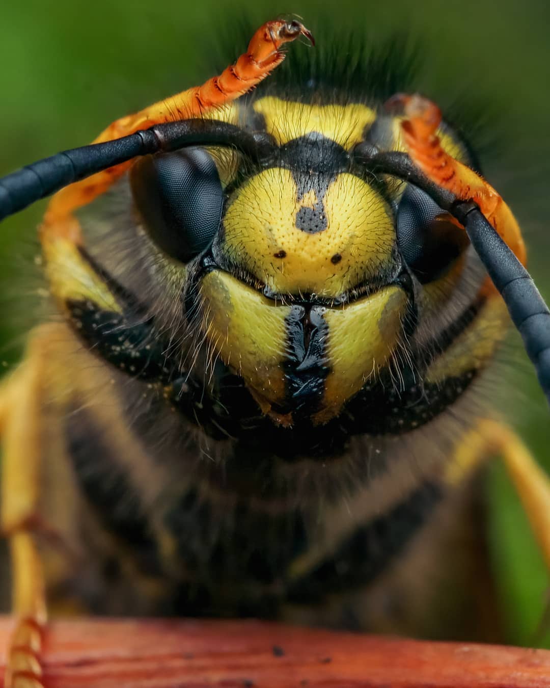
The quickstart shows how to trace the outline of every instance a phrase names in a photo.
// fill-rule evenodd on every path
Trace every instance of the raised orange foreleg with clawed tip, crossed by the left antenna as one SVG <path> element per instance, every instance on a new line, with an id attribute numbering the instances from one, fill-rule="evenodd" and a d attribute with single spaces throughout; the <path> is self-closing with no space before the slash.
<path id="1" fill-rule="evenodd" d="M 311 33 L 298 21 L 268 21 L 252 36 L 247 52 L 219 76 L 210 78 L 202 86 L 192 87 L 172 98 L 150 105 L 136 114 L 115 120 L 100 133 L 94 143 L 129 136 L 135 131 L 163 122 L 200 117 L 209 109 L 230 103 L 258 85 L 280 65 L 285 58 L 281 47 L 300 35 L 306 36 L 311 43 L 314 42 Z M 124 162 L 58 191 L 47 207 L 43 234 L 63 235 L 78 243 L 80 227 L 72 217 L 73 211 L 107 191 L 130 165 L 131 161 Z"/>

